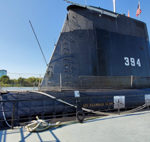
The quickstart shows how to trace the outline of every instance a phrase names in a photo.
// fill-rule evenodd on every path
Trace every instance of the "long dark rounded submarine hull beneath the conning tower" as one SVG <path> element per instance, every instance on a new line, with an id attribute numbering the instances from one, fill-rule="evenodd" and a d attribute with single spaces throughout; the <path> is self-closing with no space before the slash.
<path id="1" fill-rule="evenodd" d="M 23 121 L 22 118 L 32 116 L 57 116 L 76 113 L 76 108 L 58 100 L 63 100 L 71 105 L 77 106 L 77 99 L 81 107 L 95 111 L 114 111 L 118 109 L 132 109 L 143 104 L 149 104 L 150 88 L 147 89 L 126 89 L 126 90 L 99 90 L 99 91 L 80 91 L 80 97 L 76 98 L 74 91 L 51 92 L 47 91 L 52 97 L 45 96 L 39 92 L 22 92 L 1 94 L 0 120 L 5 123 L 11 122 L 12 114 L 14 120 Z M 120 101 L 118 104 L 118 100 Z M 4 112 L 4 113 L 3 113 Z M 5 115 L 5 116 L 4 116 Z M 32 118 L 35 119 L 35 118 Z M 2 127 L 2 126 L 1 126 Z"/>

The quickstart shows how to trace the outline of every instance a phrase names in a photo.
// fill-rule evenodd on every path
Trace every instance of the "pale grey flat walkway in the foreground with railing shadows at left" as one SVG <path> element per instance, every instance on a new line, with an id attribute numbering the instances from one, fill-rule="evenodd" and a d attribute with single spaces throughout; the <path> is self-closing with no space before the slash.
<path id="1" fill-rule="evenodd" d="M 23 128 L 0 131 L 0 142 L 149 142 L 150 111 L 108 116 L 29 133 Z"/>

